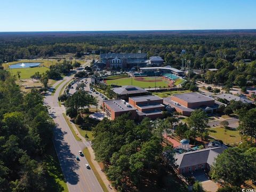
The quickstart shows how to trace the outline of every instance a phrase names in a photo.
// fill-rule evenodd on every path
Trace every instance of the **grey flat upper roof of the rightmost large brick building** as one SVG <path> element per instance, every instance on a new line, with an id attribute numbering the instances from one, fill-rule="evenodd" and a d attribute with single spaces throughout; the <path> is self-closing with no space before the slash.
<path id="1" fill-rule="evenodd" d="M 214 101 L 214 99 L 203 95 L 201 93 L 183 93 L 183 94 L 173 94 L 172 97 L 177 97 L 183 101 L 190 103 L 203 102 L 203 101 Z"/>

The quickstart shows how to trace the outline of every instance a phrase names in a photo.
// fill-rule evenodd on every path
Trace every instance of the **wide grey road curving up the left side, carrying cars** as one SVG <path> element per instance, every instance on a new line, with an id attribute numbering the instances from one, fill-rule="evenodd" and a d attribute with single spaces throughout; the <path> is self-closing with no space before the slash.
<path id="1" fill-rule="evenodd" d="M 83 150 L 86 146 L 90 146 L 90 143 L 77 141 L 74 138 L 73 133 L 62 115 L 62 113 L 65 113 L 65 108 L 63 106 L 59 107 L 58 104 L 58 95 L 61 88 L 66 82 L 70 81 L 72 77 L 73 76 L 65 77 L 61 80 L 65 82 L 55 90 L 55 94 L 46 95 L 44 100 L 45 105 L 51 106 L 50 112 L 54 115 L 53 119 L 57 125 L 53 130 L 54 147 L 70 192 L 103 191 L 93 171 L 86 169 L 85 164 L 88 164 L 86 158 L 78 155 L 78 151 Z M 53 87 L 57 86 L 61 81 L 55 83 Z M 77 155 L 81 160 L 79 162 L 76 161 Z"/>

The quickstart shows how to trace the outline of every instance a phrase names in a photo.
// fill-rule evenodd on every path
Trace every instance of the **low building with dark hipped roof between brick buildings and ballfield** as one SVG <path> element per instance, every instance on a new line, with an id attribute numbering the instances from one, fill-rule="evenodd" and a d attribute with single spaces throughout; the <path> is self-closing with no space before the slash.
<path id="1" fill-rule="evenodd" d="M 137 96 L 150 94 L 150 92 L 146 91 L 145 89 L 142 89 L 141 87 L 133 86 L 133 85 L 115 87 L 111 90 L 117 94 L 118 99 L 124 99 L 124 100 L 128 100 L 129 97 L 137 97 Z"/>

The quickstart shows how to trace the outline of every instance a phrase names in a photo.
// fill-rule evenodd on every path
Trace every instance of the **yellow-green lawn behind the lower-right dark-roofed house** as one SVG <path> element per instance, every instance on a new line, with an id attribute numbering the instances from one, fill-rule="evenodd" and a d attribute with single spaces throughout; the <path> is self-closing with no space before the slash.
<path id="1" fill-rule="evenodd" d="M 239 134 L 239 131 L 227 129 L 227 132 L 225 133 L 225 129 L 222 126 L 210 128 L 209 134 L 214 139 L 222 140 L 223 143 L 227 144 L 241 141 L 241 135 Z"/>

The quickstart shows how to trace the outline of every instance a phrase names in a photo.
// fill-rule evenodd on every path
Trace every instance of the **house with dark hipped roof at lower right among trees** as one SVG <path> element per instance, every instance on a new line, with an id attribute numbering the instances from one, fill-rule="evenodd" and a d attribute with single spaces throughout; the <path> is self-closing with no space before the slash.
<path id="1" fill-rule="evenodd" d="M 210 170 L 215 158 L 225 149 L 224 147 L 214 147 L 177 154 L 174 156 L 177 172 L 186 174 L 197 170 Z"/>

